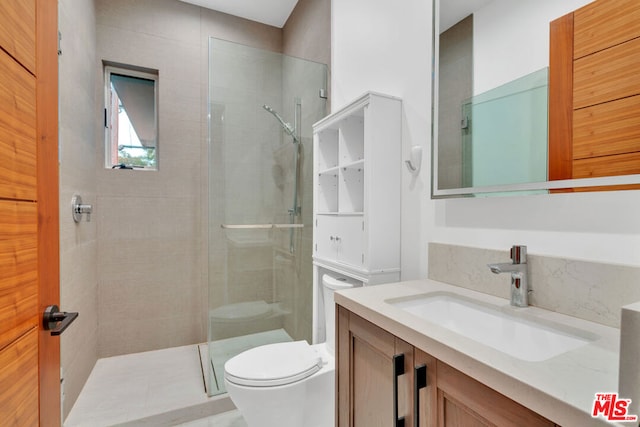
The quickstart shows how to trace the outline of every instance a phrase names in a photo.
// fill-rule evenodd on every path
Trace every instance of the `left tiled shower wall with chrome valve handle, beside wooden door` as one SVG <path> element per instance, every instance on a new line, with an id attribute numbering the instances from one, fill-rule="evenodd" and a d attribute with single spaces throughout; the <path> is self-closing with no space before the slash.
<path id="1" fill-rule="evenodd" d="M 60 144 L 60 308 L 80 313 L 61 336 L 63 413 L 68 413 L 98 358 L 97 221 L 76 224 L 71 197 L 95 207 L 100 110 L 96 90 L 93 1 L 60 0 L 58 28 Z"/>

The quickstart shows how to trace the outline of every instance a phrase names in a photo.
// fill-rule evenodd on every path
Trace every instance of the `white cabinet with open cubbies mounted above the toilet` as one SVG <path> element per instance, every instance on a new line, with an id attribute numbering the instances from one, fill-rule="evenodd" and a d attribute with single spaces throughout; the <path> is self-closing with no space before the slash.
<path id="1" fill-rule="evenodd" d="M 316 266 L 400 277 L 402 102 L 367 93 L 313 126 Z"/>

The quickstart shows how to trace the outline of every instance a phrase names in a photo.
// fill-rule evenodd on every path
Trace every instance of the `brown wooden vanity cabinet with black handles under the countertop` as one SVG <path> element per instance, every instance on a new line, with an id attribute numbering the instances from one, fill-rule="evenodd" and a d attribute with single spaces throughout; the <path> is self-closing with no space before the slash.
<path id="1" fill-rule="evenodd" d="M 336 313 L 337 427 L 555 426 L 342 306 Z"/>

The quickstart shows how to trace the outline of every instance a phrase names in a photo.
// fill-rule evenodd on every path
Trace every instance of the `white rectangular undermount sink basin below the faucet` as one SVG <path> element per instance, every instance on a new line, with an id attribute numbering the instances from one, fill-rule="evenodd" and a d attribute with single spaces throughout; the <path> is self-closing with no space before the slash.
<path id="1" fill-rule="evenodd" d="M 504 309 L 453 293 L 436 292 L 387 302 L 452 332 L 529 362 L 550 359 L 597 338 L 586 331 L 528 316 L 527 308 Z"/>

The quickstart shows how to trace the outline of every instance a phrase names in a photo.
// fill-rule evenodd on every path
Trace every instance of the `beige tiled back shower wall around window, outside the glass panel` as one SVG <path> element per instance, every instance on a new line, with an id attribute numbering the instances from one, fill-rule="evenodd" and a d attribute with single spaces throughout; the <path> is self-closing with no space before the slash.
<path id="1" fill-rule="evenodd" d="M 325 40 L 326 49 L 311 49 L 324 58 L 312 59 L 328 60 L 330 2 L 300 1 L 292 16 L 299 30 L 176 0 L 95 3 L 96 72 L 101 60 L 109 60 L 157 69 L 160 77 L 159 171 L 106 170 L 98 156 L 98 311 L 100 319 L 109 319 L 99 324 L 98 355 L 202 342 L 207 276 L 223 271 L 227 262 L 216 256 L 224 240 L 214 239 L 212 265 L 207 263 L 208 37 L 278 52 L 286 34 L 303 41 L 289 43 L 302 54 L 305 44 Z M 312 16 L 319 10 L 326 16 Z M 308 277 L 310 283 L 310 272 Z"/>

